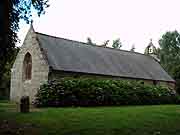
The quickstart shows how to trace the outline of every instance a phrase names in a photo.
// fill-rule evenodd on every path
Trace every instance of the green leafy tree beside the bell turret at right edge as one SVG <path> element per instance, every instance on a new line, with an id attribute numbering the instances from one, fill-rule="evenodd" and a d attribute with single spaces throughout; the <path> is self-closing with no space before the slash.
<path id="1" fill-rule="evenodd" d="M 161 65 L 176 80 L 180 92 L 180 34 L 166 32 L 159 40 Z"/>

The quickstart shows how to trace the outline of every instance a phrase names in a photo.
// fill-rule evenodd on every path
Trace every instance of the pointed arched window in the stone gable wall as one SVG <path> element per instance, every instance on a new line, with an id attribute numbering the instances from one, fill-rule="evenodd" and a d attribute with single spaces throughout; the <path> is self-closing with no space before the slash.
<path id="1" fill-rule="evenodd" d="M 24 57 L 24 80 L 31 80 L 32 77 L 32 57 L 30 53 L 26 53 Z"/>

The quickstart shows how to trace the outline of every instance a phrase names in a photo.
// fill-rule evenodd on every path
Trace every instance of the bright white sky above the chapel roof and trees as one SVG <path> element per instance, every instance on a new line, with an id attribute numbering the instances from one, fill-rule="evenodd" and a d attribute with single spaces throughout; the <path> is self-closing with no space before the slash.
<path id="1" fill-rule="evenodd" d="M 180 29 L 180 0 L 49 0 L 46 14 L 33 15 L 35 31 L 97 44 L 120 38 L 122 49 L 144 52 L 150 38 L 155 46 L 166 31 Z M 29 29 L 20 23 L 21 41 Z M 18 44 L 18 46 L 20 46 Z"/>

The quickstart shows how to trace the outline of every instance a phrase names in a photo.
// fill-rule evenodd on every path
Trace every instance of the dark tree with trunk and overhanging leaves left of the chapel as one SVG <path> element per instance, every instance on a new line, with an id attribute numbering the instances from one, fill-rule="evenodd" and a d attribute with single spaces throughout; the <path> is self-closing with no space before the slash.
<path id="1" fill-rule="evenodd" d="M 16 53 L 15 44 L 18 41 L 17 32 L 19 30 L 19 21 L 21 19 L 29 23 L 32 19 L 31 10 L 34 8 L 40 16 L 45 13 L 48 0 L 1 0 L 0 8 L 0 87 L 4 80 L 4 74 L 9 72 L 10 68 L 6 65 L 14 60 Z M 12 57 L 13 56 L 13 57 Z"/>

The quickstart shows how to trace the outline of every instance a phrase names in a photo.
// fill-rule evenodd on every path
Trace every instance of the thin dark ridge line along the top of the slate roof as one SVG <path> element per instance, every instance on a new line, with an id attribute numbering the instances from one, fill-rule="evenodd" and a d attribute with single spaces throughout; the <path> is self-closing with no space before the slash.
<path id="1" fill-rule="evenodd" d="M 91 44 L 88 44 L 88 43 L 85 43 L 85 42 L 82 42 L 82 41 L 71 40 L 71 39 L 67 39 L 67 38 L 62 38 L 62 37 L 57 37 L 57 36 L 53 36 L 53 35 L 48 35 L 48 34 L 40 33 L 40 32 L 35 32 L 35 33 L 36 33 L 36 34 L 45 35 L 45 36 L 48 36 L 48 37 L 53 37 L 53 38 L 68 40 L 68 41 L 71 41 L 71 42 L 82 43 L 82 44 L 86 44 L 86 45 L 92 46 L 92 47 L 107 48 L 107 49 L 111 49 L 111 50 L 113 50 L 113 51 L 123 51 L 123 52 L 132 53 L 132 54 L 139 54 L 139 55 L 147 56 L 147 55 L 142 54 L 142 53 L 139 53 L 139 52 L 132 52 L 132 51 L 123 50 L 123 49 L 115 49 L 115 48 L 111 48 L 111 47 L 108 47 L 108 46 L 91 45 Z"/>

